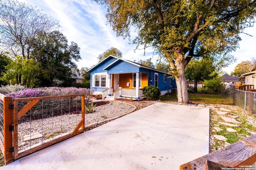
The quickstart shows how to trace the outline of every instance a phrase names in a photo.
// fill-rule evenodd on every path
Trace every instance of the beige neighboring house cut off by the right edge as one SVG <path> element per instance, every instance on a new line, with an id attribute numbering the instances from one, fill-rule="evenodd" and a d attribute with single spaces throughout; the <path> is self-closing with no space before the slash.
<path id="1" fill-rule="evenodd" d="M 248 86 L 248 88 L 254 88 L 256 87 L 256 62 L 253 64 L 252 68 L 249 72 L 246 72 L 240 76 L 240 78 L 244 79 L 244 83 L 246 85 L 252 85 L 251 87 Z"/>

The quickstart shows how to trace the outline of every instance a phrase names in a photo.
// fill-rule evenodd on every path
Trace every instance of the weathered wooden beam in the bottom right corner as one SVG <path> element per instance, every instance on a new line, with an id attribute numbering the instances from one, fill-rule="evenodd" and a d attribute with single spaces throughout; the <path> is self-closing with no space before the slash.
<path id="1" fill-rule="evenodd" d="M 252 165 L 256 161 L 256 135 L 187 162 L 180 170 L 205 170 L 206 160 L 233 168 Z"/>

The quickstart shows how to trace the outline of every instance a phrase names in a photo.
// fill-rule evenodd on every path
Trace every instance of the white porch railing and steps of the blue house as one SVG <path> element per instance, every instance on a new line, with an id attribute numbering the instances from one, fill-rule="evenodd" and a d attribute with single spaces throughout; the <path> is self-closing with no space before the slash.
<path id="1" fill-rule="evenodd" d="M 142 89 L 139 89 L 136 92 L 136 89 L 132 88 L 122 88 L 120 87 L 118 90 L 113 90 L 113 88 L 107 88 L 102 91 L 102 99 L 104 100 L 115 100 L 115 99 L 130 99 L 130 100 L 140 100 L 144 98 L 144 94 Z"/>

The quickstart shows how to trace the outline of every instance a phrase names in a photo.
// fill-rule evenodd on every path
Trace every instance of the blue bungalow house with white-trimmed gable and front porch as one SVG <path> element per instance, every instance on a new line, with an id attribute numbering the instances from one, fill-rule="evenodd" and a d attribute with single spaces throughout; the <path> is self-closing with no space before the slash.
<path id="1" fill-rule="evenodd" d="M 139 100 L 144 95 L 145 86 L 155 85 L 161 95 L 172 92 L 176 82 L 167 72 L 134 63 L 112 55 L 92 67 L 90 88 L 102 98 L 133 98 Z"/>

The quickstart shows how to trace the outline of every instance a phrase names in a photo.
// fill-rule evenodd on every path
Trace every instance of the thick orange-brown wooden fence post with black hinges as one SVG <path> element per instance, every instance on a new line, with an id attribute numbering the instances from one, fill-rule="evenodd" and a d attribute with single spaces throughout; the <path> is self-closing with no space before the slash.
<path id="1" fill-rule="evenodd" d="M 13 162 L 12 97 L 4 97 L 4 164 Z M 10 129 L 9 129 L 10 127 Z"/>

